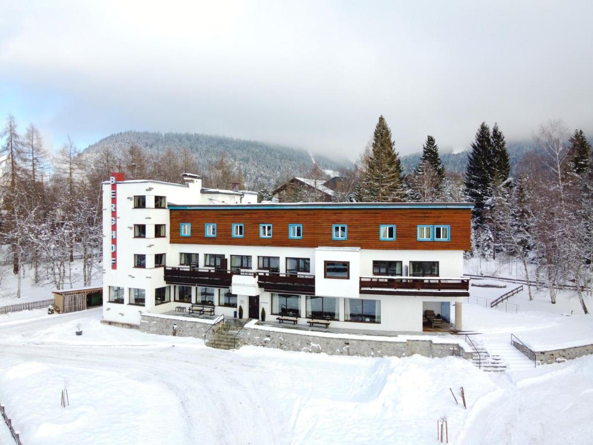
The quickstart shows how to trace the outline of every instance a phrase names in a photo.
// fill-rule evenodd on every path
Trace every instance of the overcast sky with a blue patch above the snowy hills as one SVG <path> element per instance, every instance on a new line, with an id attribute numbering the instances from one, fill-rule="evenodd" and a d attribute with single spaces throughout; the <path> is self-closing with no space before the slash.
<path id="1" fill-rule="evenodd" d="M 134 129 L 353 159 L 381 114 L 402 154 L 482 120 L 593 131 L 591 1 L 0 2 L 0 114 L 53 147 Z"/>

